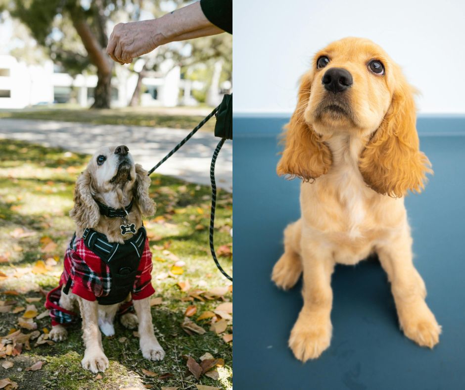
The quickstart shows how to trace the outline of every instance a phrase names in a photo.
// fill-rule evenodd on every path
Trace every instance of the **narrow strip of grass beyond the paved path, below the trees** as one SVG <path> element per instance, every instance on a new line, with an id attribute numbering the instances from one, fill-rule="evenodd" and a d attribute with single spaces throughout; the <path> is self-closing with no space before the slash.
<path id="1" fill-rule="evenodd" d="M 0 110 L 1 118 L 60 120 L 66 122 L 85 122 L 95 125 L 130 125 L 169 127 L 173 129 L 193 129 L 211 112 L 206 108 L 205 115 L 196 108 L 148 108 L 126 107 L 101 110 L 81 108 L 76 105 L 38 106 L 23 110 Z M 203 131 L 213 131 L 215 121 L 202 126 Z"/>

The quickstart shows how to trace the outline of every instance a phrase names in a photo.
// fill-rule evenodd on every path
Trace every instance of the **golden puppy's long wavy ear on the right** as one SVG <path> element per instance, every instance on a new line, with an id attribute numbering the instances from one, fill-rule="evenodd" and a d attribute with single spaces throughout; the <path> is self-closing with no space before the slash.
<path id="1" fill-rule="evenodd" d="M 408 190 L 421 192 L 426 173 L 433 171 L 419 150 L 412 87 L 401 74 L 396 76 L 396 84 L 391 106 L 362 152 L 359 168 L 374 191 L 401 197 Z"/>

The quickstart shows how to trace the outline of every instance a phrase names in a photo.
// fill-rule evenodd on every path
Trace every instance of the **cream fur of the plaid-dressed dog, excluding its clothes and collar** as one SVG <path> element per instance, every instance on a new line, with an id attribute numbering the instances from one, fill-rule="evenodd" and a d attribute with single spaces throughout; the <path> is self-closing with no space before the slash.
<path id="1" fill-rule="evenodd" d="M 130 153 L 122 154 L 118 148 L 126 146 L 108 146 L 99 148 L 91 158 L 85 171 L 76 181 L 74 207 L 70 216 L 76 223 L 76 236 L 82 237 L 86 228 L 92 228 L 106 235 L 109 242 L 123 243 L 133 234 L 121 235 L 122 218 L 109 218 L 100 215 L 96 200 L 112 208 L 123 208 L 134 200 L 127 222 L 136 225 L 136 231 L 142 226 L 142 217 L 155 213 L 155 203 L 148 194 L 150 178 L 147 172 L 135 164 Z M 104 157 L 101 164 L 99 157 Z M 129 299 L 129 296 L 128 296 Z M 136 314 L 121 316 L 121 323 L 130 329 L 139 327 L 140 350 L 149 360 L 162 360 L 165 351 L 158 343 L 152 325 L 150 297 L 134 300 Z M 67 310 L 79 310 L 82 317 L 83 339 L 86 345 L 83 368 L 97 373 L 108 368 L 108 359 L 103 352 L 100 330 L 106 336 L 113 336 L 113 320 L 122 303 L 100 305 L 74 293 L 61 293 L 60 306 Z M 100 328 L 100 330 L 99 330 Z M 62 341 L 67 331 L 62 325 L 55 325 L 50 331 L 50 339 Z"/>

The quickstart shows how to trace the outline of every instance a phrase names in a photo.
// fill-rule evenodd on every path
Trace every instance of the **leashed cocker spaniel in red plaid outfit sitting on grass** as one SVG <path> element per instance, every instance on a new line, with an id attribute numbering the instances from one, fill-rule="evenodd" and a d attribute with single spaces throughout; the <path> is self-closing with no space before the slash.
<path id="1" fill-rule="evenodd" d="M 150 313 L 152 256 L 142 224 L 142 216 L 155 212 L 149 185 L 147 172 L 124 145 L 97 150 L 76 182 L 70 212 L 76 233 L 65 254 L 60 284 L 48 293 L 46 306 L 54 341 L 66 338 L 65 325 L 80 313 L 86 347 L 82 366 L 93 373 L 108 368 L 100 330 L 113 336 L 117 314 L 127 328 L 139 324 L 145 358 L 165 356 Z"/>

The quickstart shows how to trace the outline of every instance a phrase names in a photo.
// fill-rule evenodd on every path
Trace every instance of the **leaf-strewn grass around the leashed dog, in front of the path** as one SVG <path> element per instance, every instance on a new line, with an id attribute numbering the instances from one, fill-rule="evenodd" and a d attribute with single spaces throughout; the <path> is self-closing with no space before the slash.
<path id="1" fill-rule="evenodd" d="M 232 338 L 232 318 L 216 309 L 232 301 L 232 286 L 210 256 L 210 188 L 160 175 L 151 177 L 150 195 L 157 202 L 157 212 L 144 224 L 153 252 L 156 293 L 152 298 L 158 297 L 152 317 L 165 359 L 145 360 L 137 335 L 118 321 L 114 337 L 102 336 L 110 368 L 99 376 L 81 367 L 80 323 L 70 326 L 66 341 L 35 346 L 37 340 L 31 340 L 30 350 L 23 344 L 21 353 L 12 356 L 11 347 L 2 339 L 16 329 L 30 334 L 32 330 L 20 328 L 18 320 L 36 309 L 44 312 L 44 293 L 57 286 L 63 253 L 74 231 L 68 216 L 74 182 L 89 156 L 10 140 L 0 140 L 0 153 L 0 356 L 5 350 L 7 354 L 0 358 L 0 380 L 10 378 L 19 389 L 34 390 L 208 389 L 199 385 L 232 389 L 233 350 L 228 339 Z M 220 262 L 232 274 L 232 195 L 220 190 L 217 203 L 215 244 Z M 30 298 L 40 299 L 28 302 Z M 204 334 L 189 335 L 181 327 L 186 309 Z M 220 314 L 215 310 L 221 310 Z M 47 316 L 31 321 L 37 323 L 41 338 L 50 330 Z M 212 321 L 224 326 L 212 331 Z M 224 364 L 220 361 L 217 373 L 207 372 L 209 376 L 197 380 L 187 369 L 186 356 L 200 363 L 205 353 L 224 359 Z M 3 368 L 6 361 L 13 366 Z M 41 369 L 25 370 L 38 361 L 44 362 Z M 155 374 L 146 375 L 143 369 Z"/>

